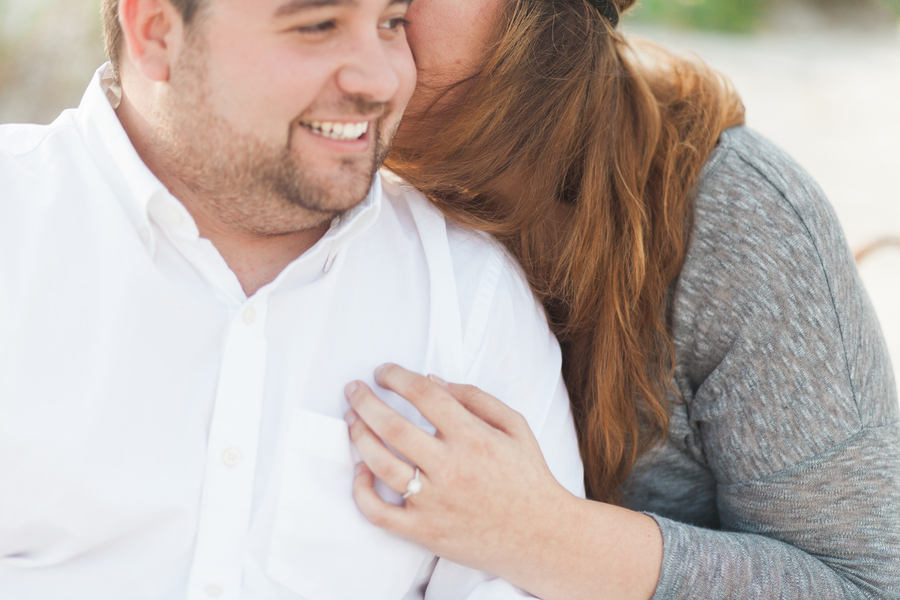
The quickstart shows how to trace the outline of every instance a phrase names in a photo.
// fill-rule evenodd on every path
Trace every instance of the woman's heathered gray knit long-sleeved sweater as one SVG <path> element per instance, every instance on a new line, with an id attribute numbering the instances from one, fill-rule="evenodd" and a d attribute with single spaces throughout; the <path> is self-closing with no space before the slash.
<path id="1" fill-rule="evenodd" d="M 745 128 L 699 188 L 665 445 L 623 485 L 659 523 L 654 600 L 900 598 L 887 349 L 821 190 Z"/>

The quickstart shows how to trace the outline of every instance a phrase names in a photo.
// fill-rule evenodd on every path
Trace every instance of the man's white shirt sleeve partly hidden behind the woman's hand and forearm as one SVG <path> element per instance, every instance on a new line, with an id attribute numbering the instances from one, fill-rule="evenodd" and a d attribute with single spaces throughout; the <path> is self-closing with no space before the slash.
<path id="1" fill-rule="evenodd" d="M 578 441 L 563 384 L 562 358 L 543 308 L 518 267 L 500 249 L 484 267 L 479 292 L 467 304 L 465 383 L 522 413 L 538 439 L 550 471 L 584 497 Z M 440 559 L 427 600 L 530 598 L 496 577 Z"/>

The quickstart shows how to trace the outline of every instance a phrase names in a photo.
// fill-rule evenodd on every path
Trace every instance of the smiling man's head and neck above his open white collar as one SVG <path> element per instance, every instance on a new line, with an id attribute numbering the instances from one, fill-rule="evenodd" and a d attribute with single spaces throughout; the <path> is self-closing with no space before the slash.
<path id="1" fill-rule="evenodd" d="M 415 85 L 408 3 L 115 5 L 119 119 L 252 295 L 369 190 Z"/>

